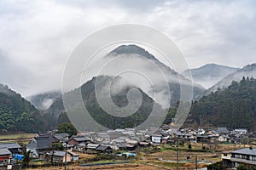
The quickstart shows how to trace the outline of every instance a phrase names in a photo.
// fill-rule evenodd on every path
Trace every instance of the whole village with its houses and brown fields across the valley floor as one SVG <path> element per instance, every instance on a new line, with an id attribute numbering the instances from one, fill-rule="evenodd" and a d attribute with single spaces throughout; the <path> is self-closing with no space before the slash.
<path id="1" fill-rule="evenodd" d="M 26 143 L 1 141 L 0 166 L 1 169 L 24 167 L 27 155 L 27 167 L 31 168 L 93 167 L 131 162 L 164 166 L 169 162 L 167 167 L 170 169 L 183 169 L 184 166 L 197 169 L 218 161 L 222 161 L 226 168 L 231 168 L 238 167 L 240 163 L 256 165 L 254 144 L 255 133 L 241 128 L 231 131 L 226 127 L 194 130 L 163 125 L 148 130 L 125 128 L 73 136 L 53 130 L 37 133 Z M 205 155 L 196 156 L 196 153 Z"/>

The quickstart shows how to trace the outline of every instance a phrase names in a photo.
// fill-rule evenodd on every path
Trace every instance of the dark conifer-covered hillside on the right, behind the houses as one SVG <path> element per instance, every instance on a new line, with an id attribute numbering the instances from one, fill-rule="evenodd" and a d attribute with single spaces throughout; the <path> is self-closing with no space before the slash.
<path id="1" fill-rule="evenodd" d="M 256 80 L 243 77 L 241 82 L 202 97 L 194 102 L 190 115 L 188 121 L 197 126 L 256 131 Z"/>

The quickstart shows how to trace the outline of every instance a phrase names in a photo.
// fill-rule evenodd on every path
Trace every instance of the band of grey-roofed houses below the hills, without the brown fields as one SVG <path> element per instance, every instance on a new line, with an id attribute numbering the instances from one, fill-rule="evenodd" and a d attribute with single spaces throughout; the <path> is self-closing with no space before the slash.
<path id="1" fill-rule="evenodd" d="M 88 154 L 108 154 L 113 150 L 134 151 L 150 145 L 173 144 L 176 139 L 189 142 L 241 142 L 246 129 L 228 131 L 226 127 L 217 130 L 204 129 L 175 129 L 169 126 L 136 130 L 134 128 L 108 130 L 107 132 L 87 132 L 71 136 L 67 133 L 38 133 L 26 145 L 26 152 L 32 158 L 48 161 L 77 161 L 78 152 Z M 10 163 L 13 158 L 21 153 L 19 144 L 0 144 L 0 163 Z"/>

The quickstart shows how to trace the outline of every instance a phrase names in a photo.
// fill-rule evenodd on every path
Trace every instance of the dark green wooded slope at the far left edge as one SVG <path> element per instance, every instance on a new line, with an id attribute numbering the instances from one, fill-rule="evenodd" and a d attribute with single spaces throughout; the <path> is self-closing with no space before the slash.
<path id="1" fill-rule="evenodd" d="M 38 132 L 46 122 L 39 111 L 20 94 L 0 84 L 0 133 L 9 131 Z"/>

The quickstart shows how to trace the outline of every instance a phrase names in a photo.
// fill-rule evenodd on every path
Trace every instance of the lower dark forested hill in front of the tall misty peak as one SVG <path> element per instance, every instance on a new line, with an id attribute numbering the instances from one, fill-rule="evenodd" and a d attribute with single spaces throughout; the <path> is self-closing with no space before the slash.
<path id="1" fill-rule="evenodd" d="M 157 114 L 163 111 L 160 105 L 155 104 L 154 100 L 148 97 L 140 88 L 123 81 L 125 80 L 122 77 L 93 77 L 90 81 L 85 82 L 81 88 L 64 94 L 63 98 L 69 101 L 66 105 L 69 118 L 72 122 L 77 122 L 76 125 L 80 125 L 80 129 L 84 129 L 86 125 L 86 128 L 90 128 L 93 122 L 84 116 L 84 112 L 86 112 L 83 109 L 84 105 L 88 114 L 103 127 L 113 129 L 135 127 L 144 122 L 154 111 L 157 111 L 153 114 L 155 122 L 157 122 L 158 116 L 160 116 Z M 108 96 L 108 86 L 111 86 L 111 96 Z M 97 87 L 98 90 L 96 90 Z M 136 91 L 134 92 L 134 90 Z M 82 103 L 79 102 L 78 94 L 80 93 L 83 99 Z M 102 95 L 99 97 L 97 93 Z M 99 98 L 102 98 L 102 103 Z M 154 107 L 157 109 L 153 111 Z M 53 113 L 55 116 L 65 112 L 62 98 L 57 98 L 47 112 Z M 131 112 L 134 114 L 130 115 Z M 115 116 L 110 115 L 110 113 Z M 120 114 L 123 116 L 119 116 Z"/>

